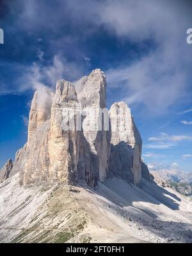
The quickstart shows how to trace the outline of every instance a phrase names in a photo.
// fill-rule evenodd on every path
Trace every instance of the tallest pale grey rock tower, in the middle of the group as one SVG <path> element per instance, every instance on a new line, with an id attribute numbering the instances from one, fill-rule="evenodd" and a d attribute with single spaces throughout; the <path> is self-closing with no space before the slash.
<path id="1" fill-rule="evenodd" d="M 91 159 L 91 170 L 86 175 L 99 181 L 106 180 L 109 169 L 111 126 L 108 113 L 104 116 L 106 86 L 106 77 L 100 69 L 93 70 L 88 77 L 83 77 L 76 83 L 77 97 L 84 113 L 83 136 Z M 106 127 L 104 122 L 108 122 Z"/>

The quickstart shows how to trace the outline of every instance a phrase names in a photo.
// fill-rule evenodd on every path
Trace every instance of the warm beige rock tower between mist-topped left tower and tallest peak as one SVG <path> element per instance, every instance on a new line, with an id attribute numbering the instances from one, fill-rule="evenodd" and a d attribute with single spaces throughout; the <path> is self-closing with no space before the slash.
<path id="1" fill-rule="evenodd" d="M 61 181 L 76 181 L 77 179 L 80 133 L 76 129 L 75 122 L 72 129 L 67 126 L 67 123 L 63 123 L 64 118 L 69 122 L 70 113 L 77 114 L 77 102 L 74 85 L 66 80 L 58 81 L 51 107 L 49 179 L 60 179 Z"/>

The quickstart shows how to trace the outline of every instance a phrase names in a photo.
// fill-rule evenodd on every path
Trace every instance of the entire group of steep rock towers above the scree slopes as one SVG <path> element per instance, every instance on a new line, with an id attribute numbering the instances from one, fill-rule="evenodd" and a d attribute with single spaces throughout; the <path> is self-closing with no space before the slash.
<path id="1" fill-rule="evenodd" d="M 112 133 L 111 133 L 112 130 Z M 28 142 L 1 170 L 1 181 L 20 172 L 20 184 L 86 182 L 109 175 L 140 184 L 142 140 L 129 107 L 106 109 L 106 78 L 100 69 L 76 83 L 60 80 L 56 91 L 36 91 Z M 145 176 L 147 170 L 145 170 Z"/>

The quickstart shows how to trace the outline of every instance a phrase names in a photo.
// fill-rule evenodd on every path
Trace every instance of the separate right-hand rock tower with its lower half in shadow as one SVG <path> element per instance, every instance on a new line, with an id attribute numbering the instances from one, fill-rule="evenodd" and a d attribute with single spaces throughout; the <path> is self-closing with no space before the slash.
<path id="1" fill-rule="evenodd" d="M 131 109 L 124 102 L 114 103 L 109 116 L 112 130 L 110 170 L 138 185 L 141 181 L 142 140 Z"/>

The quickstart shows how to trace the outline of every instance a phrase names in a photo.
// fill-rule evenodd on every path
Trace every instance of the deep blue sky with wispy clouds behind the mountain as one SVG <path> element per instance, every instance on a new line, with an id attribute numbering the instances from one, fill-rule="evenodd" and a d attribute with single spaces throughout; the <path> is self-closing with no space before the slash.
<path id="1" fill-rule="evenodd" d="M 153 169 L 192 171 L 190 1 L 1 1 L 0 166 L 27 140 L 35 89 L 102 69 Z"/>

